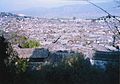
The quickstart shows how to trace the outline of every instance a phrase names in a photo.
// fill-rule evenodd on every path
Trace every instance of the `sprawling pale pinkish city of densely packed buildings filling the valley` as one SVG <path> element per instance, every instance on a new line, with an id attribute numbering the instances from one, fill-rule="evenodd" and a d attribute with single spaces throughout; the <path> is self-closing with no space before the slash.
<path id="1" fill-rule="evenodd" d="M 111 18 L 110 20 L 114 19 Z M 119 22 L 114 21 L 112 24 L 120 28 Z M 3 28 L 5 32 L 15 32 L 30 39 L 38 40 L 43 48 L 48 48 L 52 51 L 72 50 L 84 53 L 92 52 L 92 50 L 117 51 L 113 47 L 113 36 L 115 35 L 114 33 L 117 33 L 113 25 L 110 23 L 111 28 L 109 28 L 104 20 L 97 19 L 83 20 L 75 17 L 73 19 L 47 19 L 18 16 L 4 12 L 0 14 L 0 28 Z M 57 38 L 59 40 L 53 43 Z M 118 37 L 115 40 L 115 44 L 120 47 Z"/>

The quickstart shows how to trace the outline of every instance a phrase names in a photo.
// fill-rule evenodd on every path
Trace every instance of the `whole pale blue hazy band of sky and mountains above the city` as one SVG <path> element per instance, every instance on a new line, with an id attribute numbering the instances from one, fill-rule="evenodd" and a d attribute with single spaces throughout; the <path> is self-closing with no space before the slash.
<path id="1" fill-rule="evenodd" d="M 114 15 L 120 14 L 113 0 L 90 0 Z M 85 0 L 1 0 L 0 11 L 38 17 L 100 17 L 98 8 Z M 91 12 L 93 13 L 91 15 Z"/>

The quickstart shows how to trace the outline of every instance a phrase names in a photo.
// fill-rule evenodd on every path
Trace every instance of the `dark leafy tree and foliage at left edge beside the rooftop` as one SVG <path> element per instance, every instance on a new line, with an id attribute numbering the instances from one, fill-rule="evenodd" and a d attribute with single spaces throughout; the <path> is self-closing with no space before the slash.
<path id="1" fill-rule="evenodd" d="M 0 36 L 0 84 L 16 84 L 23 77 L 27 66 L 27 60 L 20 59 L 11 43 Z"/>

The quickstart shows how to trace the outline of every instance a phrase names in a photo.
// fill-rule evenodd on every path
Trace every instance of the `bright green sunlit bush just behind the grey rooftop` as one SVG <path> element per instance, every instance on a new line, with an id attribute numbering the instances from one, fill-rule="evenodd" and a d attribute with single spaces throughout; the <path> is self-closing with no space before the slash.
<path id="1" fill-rule="evenodd" d="M 22 48 L 37 48 L 40 46 L 40 43 L 36 40 L 28 40 L 26 43 L 22 44 Z"/>

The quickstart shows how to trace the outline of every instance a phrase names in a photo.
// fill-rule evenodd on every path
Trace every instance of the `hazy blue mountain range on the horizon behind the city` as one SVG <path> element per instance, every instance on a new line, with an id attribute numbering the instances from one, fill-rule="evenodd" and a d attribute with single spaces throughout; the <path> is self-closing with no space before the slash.
<path id="1" fill-rule="evenodd" d="M 108 12 L 114 15 L 120 15 L 120 8 L 115 8 L 115 3 L 99 3 L 97 4 Z M 56 8 L 30 8 L 21 11 L 13 11 L 13 13 L 20 13 L 30 16 L 39 17 L 80 17 L 80 18 L 94 18 L 106 15 L 103 11 L 91 4 L 75 4 L 65 5 Z"/>

